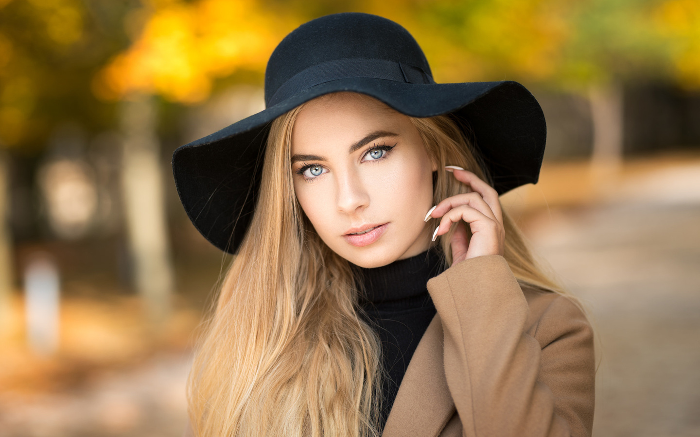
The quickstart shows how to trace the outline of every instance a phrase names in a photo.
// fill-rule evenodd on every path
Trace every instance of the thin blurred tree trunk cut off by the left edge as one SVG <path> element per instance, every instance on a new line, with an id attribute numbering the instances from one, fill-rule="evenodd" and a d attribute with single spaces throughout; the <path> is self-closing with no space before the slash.
<path id="1" fill-rule="evenodd" d="M 0 337 L 8 335 L 13 328 L 13 257 L 9 212 L 10 168 L 7 155 L 0 151 Z"/>

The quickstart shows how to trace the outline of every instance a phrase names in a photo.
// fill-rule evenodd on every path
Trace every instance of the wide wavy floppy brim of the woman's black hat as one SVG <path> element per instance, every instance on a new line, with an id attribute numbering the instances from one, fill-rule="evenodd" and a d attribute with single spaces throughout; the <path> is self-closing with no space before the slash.
<path id="1" fill-rule="evenodd" d="M 465 120 L 498 194 L 538 180 L 547 137 L 545 116 L 534 96 L 517 82 L 332 80 L 175 150 L 177 192 L 204 238 L 225 252 L 236 252 L 253 217 L 270 123 L 304 102 L 340 91 L 367 94 L 412 117 L 452 113 Z"/>

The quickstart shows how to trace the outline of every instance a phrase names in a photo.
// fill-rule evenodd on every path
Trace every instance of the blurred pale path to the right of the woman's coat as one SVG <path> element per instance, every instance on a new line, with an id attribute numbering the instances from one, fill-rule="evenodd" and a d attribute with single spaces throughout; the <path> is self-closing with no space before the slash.
<path id="1" fill-rule="evenodd" d="M 685 178 L 685 194 L 647 178 L 608 206 L 531 222 L 535 248 L 591 310 L 596 437 L 700 436 L 700 168 Z"/>

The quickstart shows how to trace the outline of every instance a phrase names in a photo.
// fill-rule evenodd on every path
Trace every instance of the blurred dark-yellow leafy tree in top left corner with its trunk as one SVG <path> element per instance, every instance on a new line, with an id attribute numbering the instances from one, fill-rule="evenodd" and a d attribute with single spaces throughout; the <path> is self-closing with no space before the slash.
<path id="1" fill-rule="evenodd" d="M 134 3 L 0 0 L 0 300 L 6 301 L 13 283 L 4 221 L 8 163 L 13 155 L 39 155 L 57 124 L 109 127 L 113 105 L 96 99 L 85 84 L 126 45 L 121 21 Z"/>

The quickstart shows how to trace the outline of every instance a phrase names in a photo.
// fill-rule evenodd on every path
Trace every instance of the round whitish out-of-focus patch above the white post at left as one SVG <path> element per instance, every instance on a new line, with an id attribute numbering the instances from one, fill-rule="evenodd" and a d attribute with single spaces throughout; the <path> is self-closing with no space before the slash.
<path id="1" fill-rule="evenodd" d="M 78 159 L 57 159 L 41 169 L 39 184 L 51 229 L 62 238 L 83 236 L 97 213 L 90 167 Z"/>

